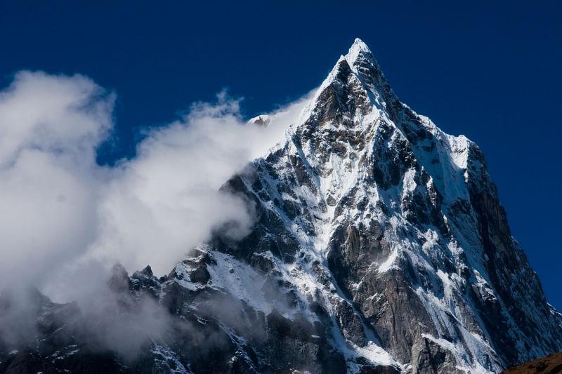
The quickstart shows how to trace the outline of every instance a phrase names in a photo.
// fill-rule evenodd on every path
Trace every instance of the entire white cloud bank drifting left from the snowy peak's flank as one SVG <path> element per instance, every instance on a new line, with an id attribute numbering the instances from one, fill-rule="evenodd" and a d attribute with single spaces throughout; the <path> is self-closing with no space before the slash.
<path id="1" fill-rule="evenodd" d="M 273 147 L 308 100 L 260 126 L 221 93 L 148 131 L 133 159 L 99 166 L 114 102 L 80 75 L 20 72 L 0 92 L 0 288 L 31 283 L 72 300 L 115 262 L 166 274 L 226 222 L 243 236 L 251 211 L 218 189 Z"/>

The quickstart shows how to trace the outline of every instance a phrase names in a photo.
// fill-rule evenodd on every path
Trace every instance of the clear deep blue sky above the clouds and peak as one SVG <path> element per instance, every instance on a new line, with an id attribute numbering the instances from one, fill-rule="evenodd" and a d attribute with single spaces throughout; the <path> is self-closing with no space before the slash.
<path id="1" fill-rule="evenodd" d="M 318 86 L 358 36 L 394 91 L 481 146 L 514 236 L 562 310 L 562 2 L 1 1 L 0 84 L 81 73 L 118 95 L 100 163 L 222 88 L 244 114 Z M 521 3 L 521 4 L 518 4 Z M 157 5 L 159 4 L 159 5 Z"/>

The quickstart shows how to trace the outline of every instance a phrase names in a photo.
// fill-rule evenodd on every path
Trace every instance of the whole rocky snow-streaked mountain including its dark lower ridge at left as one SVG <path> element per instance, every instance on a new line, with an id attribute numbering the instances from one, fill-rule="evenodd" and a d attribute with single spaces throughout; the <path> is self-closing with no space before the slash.
<path id="1" fill-rule="evenodd" d="M 225 227 L 161 279 L 115 269 L 124 321 L 142 300 L 166 312 L 140 354 L 96 348 L 63 316 L 84 311 L 37 296 L 48 328 L 0 346 L 0 372 L 497 373 L 562 350 L 481 150 L 401 103 L 358 39 L 223 190 L 256 214 L 244 239 Z"/>

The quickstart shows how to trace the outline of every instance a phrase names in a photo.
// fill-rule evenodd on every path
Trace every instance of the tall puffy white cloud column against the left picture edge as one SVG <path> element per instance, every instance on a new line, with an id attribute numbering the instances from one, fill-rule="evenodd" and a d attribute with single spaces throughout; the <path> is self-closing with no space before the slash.
<path id="1" fill-rule="evenodd" d="M 21 72 L 0 94 L 0 285 L 45 276 L 96 227 L 95 149 L 113 96 L 83 76 Z"/>

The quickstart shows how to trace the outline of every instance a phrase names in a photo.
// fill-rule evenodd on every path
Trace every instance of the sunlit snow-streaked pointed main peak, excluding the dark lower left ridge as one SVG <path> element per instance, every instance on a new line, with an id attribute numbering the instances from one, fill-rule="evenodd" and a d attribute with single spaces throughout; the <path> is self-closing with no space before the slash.
<path id="1" fill-rule="evenodd" d="M 285 139 L 226 189 L 259 222 L 239 243 L 202 247 L 211 281 L 269 314 L 255 285 L 275 280 L 291 298 L 281 314 L 321 323 L 350 371 L 497 372 L 562 349 L 561 316 L 480 149 L 403 105 L 359 39 Z M 251 269 L 226 272 L 238 261 Z"/>

